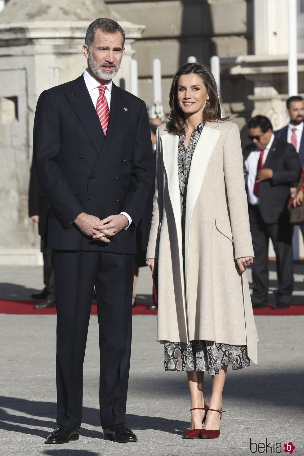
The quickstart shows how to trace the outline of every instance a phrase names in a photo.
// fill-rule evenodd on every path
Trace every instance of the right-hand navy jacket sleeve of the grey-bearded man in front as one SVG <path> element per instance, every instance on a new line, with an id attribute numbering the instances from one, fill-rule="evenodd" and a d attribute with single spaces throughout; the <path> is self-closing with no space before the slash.
<path id="1" fill-rule="evenodd" d="M 132 218 L 136 227 L 144 212 L 154 176 L 154 158 L 147 108 L 142 102 L 131 160 L 130 185 L 121 212 Z M 133 228 L 134 228 L 133 227 Z"/>

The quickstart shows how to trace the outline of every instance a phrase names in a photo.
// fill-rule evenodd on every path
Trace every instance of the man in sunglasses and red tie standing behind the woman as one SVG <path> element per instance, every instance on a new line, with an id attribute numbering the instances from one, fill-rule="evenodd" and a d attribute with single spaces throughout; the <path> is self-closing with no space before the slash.
<path id="1" fill-rule="evenodd" d="M 298 180 L 301 164 L 294 147 L 273 135 L 262 115 L 248 122 L 252 144 L 244 151 L 247 198 L 254 250 L 252 307 L 267 307 L 268 241 L 277 258 L 278 291 L 273 309 L 289 307 L 293 290 L 292 226 L 287 204 L 289 187 Z"/>

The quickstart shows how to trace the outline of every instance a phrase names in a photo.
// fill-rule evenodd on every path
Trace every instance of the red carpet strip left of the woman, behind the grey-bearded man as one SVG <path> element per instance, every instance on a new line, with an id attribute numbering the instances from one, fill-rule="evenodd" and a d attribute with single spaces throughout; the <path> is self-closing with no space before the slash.
<path id="1" fill-rule="evenodd" d="M 50 309 L 34 309 L 33 306 L 38 304 L 40 301 L 4 301 L 0 300 L 0 314 L 21 314 L 21 315 L 55 315 L 55 307 Z M 132 313 L 133 315 L 156 315 L 157 311 L 147 310 L 147 304 L 137 304 L 134 307 Z M 91 315 L 97 315 L 97 306 L 96 302 L 93 302 Z"/>

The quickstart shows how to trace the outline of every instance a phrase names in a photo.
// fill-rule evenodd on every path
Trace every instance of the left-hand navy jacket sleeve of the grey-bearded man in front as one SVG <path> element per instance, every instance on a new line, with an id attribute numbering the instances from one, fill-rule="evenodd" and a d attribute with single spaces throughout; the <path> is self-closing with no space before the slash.
<path id="1" fill-rule="evenodd" d="M 55 99 L 42 92 L 34 120 L 33 162 L 37 181 L 65 230 L 83 208 L 60 170 L 60 133 Z"/>

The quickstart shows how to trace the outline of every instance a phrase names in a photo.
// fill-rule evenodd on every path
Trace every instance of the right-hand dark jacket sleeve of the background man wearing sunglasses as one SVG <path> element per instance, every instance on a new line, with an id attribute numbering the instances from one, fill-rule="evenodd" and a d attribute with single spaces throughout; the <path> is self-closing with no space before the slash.
<path id="1" fill-rule="evenodd" d="M 290 185 L 291 187 L 297 186 L 299 176 L 301 173 L 301 163 L 299 155 L 294 149 L 293 145 L 286 143 L 286 151 L 284 155 L 284 169 L 280 171 L 273 171 L 271 179 L 272 185 Z"/>

